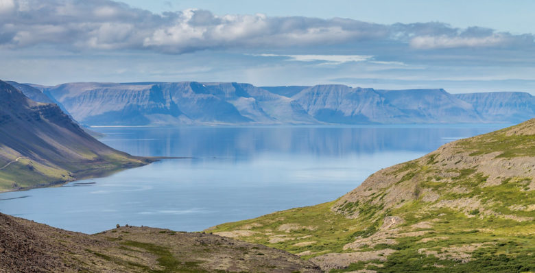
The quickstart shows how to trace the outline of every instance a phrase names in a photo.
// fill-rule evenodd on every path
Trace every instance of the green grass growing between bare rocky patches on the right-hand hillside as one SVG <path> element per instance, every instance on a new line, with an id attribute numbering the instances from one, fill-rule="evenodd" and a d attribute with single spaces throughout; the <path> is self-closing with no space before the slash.
<path id="1" fill-rule="evenodd" d="M 534 135 L 506 135 L 508 130 L 517 129 L 519 127 L 507 128 L 457 141 L 451 149 L 454 153 L 468 152 L 470 156 L 495 152 L 495 159 L 499 160 L 516 156 L 534 157 Z M 439 156 L 438 153 L 431 153 L 424 158 L 393 167 L 392 171 L 385 173 L 392 177 L 392 183 L 388 187 L 361 189 L 361 191 L 374 191 L 365 201 L 361 198 L 356 202 L 346 200 L 338 204 L 335 209 L 340 214 L 333 213 L 331 209 L 335 202 L 329 202 L 222 224 L 211 231 L 240 230 L 246 225 L 260 224 L 261 226 L 251 228 L 258 233 L 240 239 L 293 253 L 305 250 L 316 252 L 303 256 L 304 259 L 329 252 L 359 252 L 385 248 L 396 250 L 386 258 L 386 262 L 381 263 L 376 260 L 353 263 L 348 268 L 331 272 L 364 269 L 377 272 L 535 271 L 535 221 L 529 220 L 535 218 L 535 211 L 517 209 L 535 204 L 535 191 L 528 191 L 533 178 L 507 177 L 503 178 L 499 185 L 488 186 L 489 177 L 479 172 L 477 166 L 466 167 L 460 164 L 462 160 L 457 160 L 453 164 L 454 168 L 444 167 L 448 164 Z M 384 205 L 381 201 L 392 190 L 409 190 L 412 194 L 405 194 L 405 199 L 399 198 L 395 204 Z M 423 197 L 429 191 L 438 199 L 424 202 Z M 392 196 L 389 196 L 392 200 Z M 453 203 L 456 200 L 460 200 L 460 203 Z M 439 203 L 455 205 L 441 207 L 438 206 Z M 475 204 L 479 206 L 474 207 Z M 344 215 L 351 215 L 355 219 L 348 219 Z M 397 226 L 401 232 L 420 230 L 423 233 L 412 237 L 392 237 L 390 239 L 396 241 L 394 245 L 377 244 L 373 247 L 364 245 L 357 250 L 343 249 L 345 244 L 355 241 L 357 237 L 373 236 L 386 215 L 399 216 L 405 221 Z M 524 221 L 510 219 L 514 217 Z M 421 222 L 427 222 L 431 226 L 412 227 Z M 277 230 L 282 224 L 316 226 L 316 229 L 292 230 L 285 233 Z M 293 239 L 270 243 L 269 239 L 283 235 Z M 311 237 L 299 239 L 306 235 Z M 296 243 L 304 241 L 316 241 L 316 243 L 310 246 L 295 246 Z M 461 263 L 453 259 L 455 251 L 466 249 L 466 246 L 475 249 L 466 253 L 471 255 L 468 261 Z M 444 254 L 449 259 L 439 259 L 433 254 L 418 252 L 420 249 L 436 251 L 439 257 L 440 254 Z"/>

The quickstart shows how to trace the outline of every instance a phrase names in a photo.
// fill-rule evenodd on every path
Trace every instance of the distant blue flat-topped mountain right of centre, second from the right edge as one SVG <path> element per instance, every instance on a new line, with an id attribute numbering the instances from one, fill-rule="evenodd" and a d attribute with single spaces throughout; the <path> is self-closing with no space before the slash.
<path id="1" fill-rule="evenodd" d="M 312 117 L 328 123 L 478 122 L 473 106 L 443 89 L 381 91 L 320 85 L 292 97 Z"/>

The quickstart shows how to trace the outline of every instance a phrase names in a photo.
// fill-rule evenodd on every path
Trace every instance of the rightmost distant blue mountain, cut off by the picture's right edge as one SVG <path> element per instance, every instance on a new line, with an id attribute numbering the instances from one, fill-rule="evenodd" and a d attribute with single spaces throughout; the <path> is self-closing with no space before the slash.
<path id="1" fill-rule="evenodd" d="M 535 117 L 535 97 L 522 92 L 456 94 L 474 106 L 482 117 L 495 121 L 521 122 Z"/>

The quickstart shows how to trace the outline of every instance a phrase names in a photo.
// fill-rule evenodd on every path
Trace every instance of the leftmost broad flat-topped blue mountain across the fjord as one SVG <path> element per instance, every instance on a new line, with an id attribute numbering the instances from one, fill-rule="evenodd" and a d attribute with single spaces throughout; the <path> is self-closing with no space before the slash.
<path id="1" fill-rule="evenodd" d="M 310 122 L 291 99 L 237 83 L 74 83 L 43 88 L 93 126 Z"/>

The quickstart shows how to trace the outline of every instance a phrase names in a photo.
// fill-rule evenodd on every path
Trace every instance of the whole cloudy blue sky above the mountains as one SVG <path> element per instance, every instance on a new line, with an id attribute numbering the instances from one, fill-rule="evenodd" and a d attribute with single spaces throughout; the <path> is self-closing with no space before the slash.
<path id="1" fill-rule="evenodd" d="M 535 95 L 535 1 L 0 0 L 0 79 Z"/>

